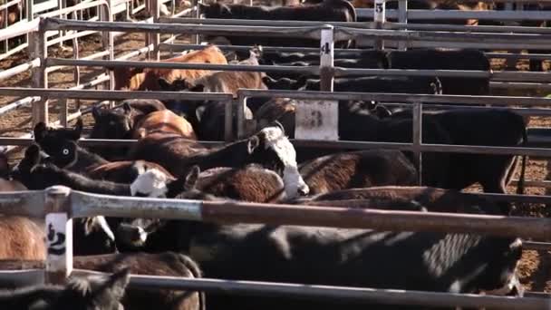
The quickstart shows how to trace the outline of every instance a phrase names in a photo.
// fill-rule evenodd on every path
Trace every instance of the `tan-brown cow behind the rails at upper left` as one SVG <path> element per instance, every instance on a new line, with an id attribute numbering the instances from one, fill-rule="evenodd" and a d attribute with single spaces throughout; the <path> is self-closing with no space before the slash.
<path id="1" fill-rule="evenodd" d="M 163 61 L 171 63 L 227 64 L 226 56 L 224 56 L 224 53 L 216 45 L 210 45 L 204 50 L 186 53 Z M 115 90 L 126 88 L 131 91 L 159 91 L 158 80 L 160 78 L 173 82 L 176 79 L 197 79 L 209 73 L 208 70 L 126 67 L 113 68 L 112 70 L 115 74 Z"/>

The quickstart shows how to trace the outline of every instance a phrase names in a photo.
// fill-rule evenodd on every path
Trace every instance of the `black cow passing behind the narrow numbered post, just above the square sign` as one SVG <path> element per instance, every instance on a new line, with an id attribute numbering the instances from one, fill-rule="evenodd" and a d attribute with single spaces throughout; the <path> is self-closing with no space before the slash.
<path id="1" fill-rule="evenodd" d="M 275 81 L 265 77 L 263 81 L 269 89 L 319 91 L 320 80 L 287 78 Z M 439 78 L 425 76 L 366 76 L 336 78 L 333 80 L 335 92 L 396 92 L 396 93 L 442 93 Z"/>

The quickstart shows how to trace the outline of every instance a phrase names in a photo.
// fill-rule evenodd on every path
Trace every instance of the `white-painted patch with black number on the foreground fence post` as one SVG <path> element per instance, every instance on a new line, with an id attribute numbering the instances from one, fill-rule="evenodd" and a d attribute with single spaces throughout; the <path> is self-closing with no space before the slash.
<path id="1" fill-rule="evenodd" d="M 73 220 L 67 213 L 46 215 L 46 272 L 65 272 L 73 269 Z"/>

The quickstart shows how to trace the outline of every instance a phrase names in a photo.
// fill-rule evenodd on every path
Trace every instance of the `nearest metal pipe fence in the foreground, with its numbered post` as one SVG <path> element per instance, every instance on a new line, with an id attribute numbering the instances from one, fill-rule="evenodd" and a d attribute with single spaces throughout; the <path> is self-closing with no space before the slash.
<path id="1" fill-rule="evenodd" d="M 153 217 L 190 219 L 218 223 L 266 223 L 271 225 L 322 226 L 489 234 L 502 237 L 551 239 L 551 219 L 514 218 L 469 214 L 387 211 L 369 208 L 301 207 L 295 205 L 215 202 L 183 199 L 142 199 L 90 194 L 64 187 L 40 191 L 0 193 L 0 212 L 45 218 L 45 227 L 56 240 L 46 238 L 44 274 L 35 270 L 9 271 L 9 276 L 43 278 L 48 283 L 63 283 L 73 273 L 71 218 L 104 215 L 111 217 Z M 402 291 L 377 288 L 313 286 L 300 284 L 181 279 L 166 276 L 132 276 L 131 286 L 164 289 L 225 290 L 232 294 L 295 295 L 354 298 L 393 305 L 456 305 L 498 307 L 500 309 L 546 309 L 547 297 L 500 297 L 469 294 Z"/>

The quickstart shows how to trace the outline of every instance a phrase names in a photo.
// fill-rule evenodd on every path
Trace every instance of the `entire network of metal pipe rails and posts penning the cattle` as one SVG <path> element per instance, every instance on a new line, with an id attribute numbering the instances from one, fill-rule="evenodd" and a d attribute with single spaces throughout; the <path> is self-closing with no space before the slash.
<path id="1" fill-rule="evenodd" d="M 128 4 L 128 3 L 127 3 Z M 400 1 L 402 9 L 407 5 Z M 102 6 L 104 16 L 109 15 L 111 1 L 94 1 L 78 6 L 79 9 Z M 32 5 L 31 5 L 32 6 Z M 147 4 L 153 12 L 154 23 L 126 23 L 113 22 L 112 16 L 103 21 L 78 21 L 43 16 L 34 19 L 32 24 L 25 24 L 24 29 L 16 34 L 29 35 L 30 62 L 0 72 L 0 80 L 14 76 L 16 73 L 32 70 L 33 87 L 1 87 L 3 96 L 24 97 L 9 106 L 0 108 L 0 115 L 13 111 L 25 104 L 32 103 L 32 121 L 49 122 L 49 100 L 57 99 L 61 102 L 60 120 L 57 123 L 67 126 L 69 121 L 81 116 L 89 109 L 77 109 L 70 113 L 68 100 L 93 100 L 98 105 L 109 104 L 123 99 L 173 99 L 173 100 L 211 100 L 226 103 L 225 140 L 232 141 L 247 136 L 247 117 L 245 106 L 250 98 L 294 98 L 311 101 L 299 106 L 299 109 L 313 109 L 317 111 L 316 119 L 300 120 L 297 114 L 297 128 L 300 124 L 310 126 L 299 130 L 293 143 L 295 146 L 323 147 L 333 149 L 373 149 L 387 148 L 411 150 L 420 159 L 423 152 L 465 152 L 479 154 L 514 154 L 532 157 L 551 157 L 551 150 L 547 149 L 549 141 L 545 134 L 532 135 L 533 145 L 529 147 L 483 147 L 467 145 L 429 144 L 421 140 L 422 112 L 427 107 L 444 107 L 448 103 L 457 106 L 486 104 L 509 108 L 524 116 L 549 116 L 548 107 L 551 99 L 527 96 L 463 96 L 463 95 L 427 95 L 402 93 L 375 93 L 375 92 L 333 92 L 333 79 L 341 76 L 360 75 L 416 75 L 416 76 L 449 76 L 449 77 L 484 77 L 490 79 L 490 86 L 494 89 L 538 89 L 549 90 L 551 77 L 549 73 L 518 73 L 518 72 L 485 72 L 485 71 L 453 71 L 453 70 L 402 70 L 402 69 L 349 69 L 333 66 L 334 55 L 338 53 L 357 53 L 360 50 L 335 49 L 334 42 L 349 38 L 362 38 L 368 44 L 383 41 L 385 47 L 398 46 L 401 48 L 414 47 L 449 47 L 449 48 L 484 48 L 484 49 L 518 49 L 521 44 L 524 48 L 536 50 L 551 50 L 551 31 L 546 28 L 519 27 L 519 26 L 459 26 L 433 25 L 426 27 L 423 24 L 405 24 L 408 19 L 425 19 L 434 15 L 411 11 L 408 15 L 399 12 L 387 11 L 387 17 L 397 17 L 401 23 L 383 24 L 383 29 L 375 28 L 372 23 L 327 23 L 327 22 L 274 22 L 274 21 L 237 21 L 237 20 L 205 20 L 179 17 L 160 17 L 160 2 L 151 1 Z M 145 5 L 144 5 L 145 7 Z M 66 13 L 76 12 L 67 9 Z M 198 12 L 198 10 L 196 9 Z M 361 15 L 373 18 L 373 10 L 363 9 Z M 492 19 L 549 19 L 547 12 L 440 12 L 439 18 L 449 18 L 453 14 L 456 18 L 492 18 Z M 495 14 L 495 15 L 493 15 Z M 406 18 L 407 16 L 407 18 Z M 489 17 L 488 17 L 489 16 Z M 375 16 L 376 17 L 376 16 Z M 99 20 L 100 18 L 98 18 Z M 440 27 L 440 28 L 434 28 Z M 406 29 L 406 30 L 404 30 Z M 435 30 L 436 29 L 436 30 Z M 65 32 L 78 34 L 93 32 L 102 34 L 102 44 L 106 51 L 84 58 L 63 59 L 50 57 L 48 53 L 48 34 Z M 123 59 L 115 60 L 113 54 L 114 32 L 137 32 L 148 35 L 147 46 L 130 53 Z M 0 31 L 0 39 L 13 37 Z M 285 36 L 309 38 L 320 41 L 321 48 L 272 48 L 277 51 L 310 51 L 320 53 L 320 65 L 293 67 L 293 66 L 245 66 L 245 65 L 218 65 L 194 63 L 167 63 L 160 61 L 161 51 L 177 52 L 189 48 L 197 48 L 198 44 L 172 44 L 171 36 L 164 42 L 155 34 L 241 34 L 262 36 Z M 63 42 L 63 40 L 61 40 Z M 59 43 L 58 40 L 56 43 Z M 329 46 L 329 48 L 323 48 Z M 221 46 L 223 50 L 248 49 L 245 46 Z M 266 47 L 270 50 L 270 47 Z M 157 62 L 129 61 L 131 57 L 146 53 Z M 530 54 L 487 53 L 488 56 L 522 58 Z M 103 58 L 98 60 L 98 58 Z M 536 54 L 536 59 L 549 59 L 548 55 Z M 293 72 L 308 73 L 321 77 L 321 88 L 324 92 L 306 91 L 259 91 L 239 90 L 237 99 L 230 93 L 196 93 L 196 92 L 128 92 L 114 91 L 112 74 L 105 71 L 90 82 L 80 83 L 74 89 L 51 88 L 48 82 L 48 73 L 53 68 L 63 67 L 136 67 L 136 68 L 178 68 L 178 69 L 208 69 L 217 71 L 242 72 Z M 78 75 L 78 71 L 77 71 Z M 76 78 L 80 80 L 79 77 Z M 111 82 L 110 82 L 111 81 Z M 85 88 L 103 85 L 104 90 L 86 90 Z M 413 137 L 411 143 L 382 143 L 338 140 L 333 120 L 337 114 L 338 102 L 341 100 L 401 102 L 413 105 Z M 317 108 L 316 110 L 316 106 Z M 445 106 L 444 108 L 453 108 Z M 488 107 L 470 107 L 470 109 L 484 110 Z M 236 113 L 234 120 L 232 114 Z M 304 115 L 307 118 L 307 115 Z M 311 117 L 311 116 L 310 116 Z M 317 120 L 317 121 L 316 121 Z M 320 121 L 321 120 L 321 121 Z M 234 122 L 236 129 L 234 130 Z M 50 121 L 52 123 L 52 121 Z M 536 132 L 536 131 L 532 131 Z M 539 132 L 539 131 L 537 131 Z M 320 139 L 324 136 L 324 139 Z M 331 138 L 326 138 L 331 137 Z M 30 135 L 24 137 L 1 137 L 0 145 L 26 146 L 34 140 Z M 92 140 L 82 139 L 81 145 L 109 145 L 113 147 L 128 145 L 136 140 Z M 223 141 L 208 141 L 206 144 L 218 145 Z M 7 150 L 7 149 L 6 149 Z M 422 167 L 418 167 L 422 175 Z M 549 187 L 548 181 L 529 180 L 528 186 Z M 503 194 L 473 194 L 498 201 L 512 201 L 517 203 L 551 203 L 551 196 L 543 195 L 503 195 Z M 178 199 L 141 199 L 120 198 L 79 192 L 63 187 L 53 187 L 42 191 L 25 191 L 16 193 L 0 193 L 0 213 L 4 215 L 21 215 L 45 218 L 46 227 L 52 225 L 53 231 L 61 233 L 66 238 L 60 244 L 59 240 L 46 239 L 48 248 L 61 250 L 55 254 L 48 252 L 43 269 L 29 269 L 0 272 L 0 278 L 24 278 L 29 283 L 48 282 L 63 283 L 64 279 L 74 273 L 85 273 L 82 270 L 73 270 L 73 240 L 71 237 L 72 218 L 82 218 L 94 215 L 112 217 L 150 217 L 193 219 L 212 222 L 238 223 L 266 223 L 273 225 L 304 225 L 323 226 L 334 228 L 372 228 L 387 230 L 408 231 L 436 231 L 456 233 L 478 233 L 495 236 L 522 237 L 538 242 L 525 242 L 527 248 L 549 249 L 551 244 L 551 219 L 549 218 L 521 218 L 475 216 L 468 214 L 447 213 L 416 213 L 407 211 L 383 211 L 377 209 L 347 209 L 331 207 L 297 207 L 276 204 L 252 204 L 236 202 L 210 202 Z M 229 281 L 221 279 L 182 279 L 168 276 L 132 276 L 131 286 L 156 287 L 170 289 L 197 289 L 205 291 L 224 291 L 242 295 L 293 295 L 310 298 L 335 298 L 344 300 L 363 300 L 393 305 L 455 305 L 461 307 L 491 307 L 499 309 L 547 309 L 550 307 L 549 296 L 542 294 L 527 294 L 524 297 L 505 297 L 493 295 L 466 295 L 452 293 L 420 292 L 407 290 L 379 289 L 376 287 L 337 287 L 313 286 L 301 284 L 266 283 L 253 281 Z M 536 292 L 534 292 L 536 293 Z"/>

